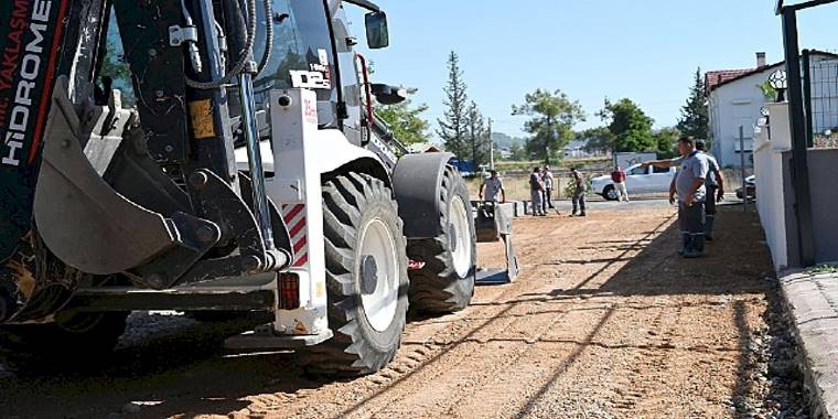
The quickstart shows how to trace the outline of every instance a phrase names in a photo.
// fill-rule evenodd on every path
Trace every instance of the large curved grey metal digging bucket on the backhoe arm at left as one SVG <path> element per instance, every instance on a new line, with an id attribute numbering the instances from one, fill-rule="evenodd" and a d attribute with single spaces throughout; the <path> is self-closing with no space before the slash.
<path id="1" fill-rule="evenodd" d="M 117 111 L 115 123 L 125 127 L 130 114 Z M 116 129 L 108 137 L 118 142 L 121 135 L 122 129 Z M 82 149 L 82 138 L 87 136 L 61 84 L 53 95 L 44 138 L 35 224 L 60 259 L 88 273 L 111 275 L 137 267 L 174 244 L 174 232 L 161 214 L 118 194 L 101 179 L 104 168 L 97 171 L 90 164 Z"/>

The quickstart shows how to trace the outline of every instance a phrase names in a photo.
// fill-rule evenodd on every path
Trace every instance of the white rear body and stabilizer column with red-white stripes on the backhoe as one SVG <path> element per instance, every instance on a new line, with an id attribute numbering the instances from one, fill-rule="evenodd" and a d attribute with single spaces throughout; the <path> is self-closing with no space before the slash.
<path id="1" fill-rule="evenodd" d="M 329 332 L 321 174 L 358 159 L 374 159 L 384 166 L 340 130 L 318 129 L 316 106 L 312 90 L 271 90 L 271 142 L 261 143 L 266 193 L 288 226 L 294 249 L 289 272 L 299 277 L 300 308 L 276 310 L 275 333 L 282 335 Z M 247 157 L 243 158 L 246 163 Z"/>

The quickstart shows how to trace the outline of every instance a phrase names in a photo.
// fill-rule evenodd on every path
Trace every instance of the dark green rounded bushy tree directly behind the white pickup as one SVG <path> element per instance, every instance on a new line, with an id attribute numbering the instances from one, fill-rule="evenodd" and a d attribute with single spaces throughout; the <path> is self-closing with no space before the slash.
<path id="1" fill-rule="evenodd" d="M 652 136 L 654 119 L 627 98 L 612 103 L 605 99 L 605 106 L 599 116 L 608 121 L 611 131 L 612 151 L 649 151 L 657 149 Z"/>

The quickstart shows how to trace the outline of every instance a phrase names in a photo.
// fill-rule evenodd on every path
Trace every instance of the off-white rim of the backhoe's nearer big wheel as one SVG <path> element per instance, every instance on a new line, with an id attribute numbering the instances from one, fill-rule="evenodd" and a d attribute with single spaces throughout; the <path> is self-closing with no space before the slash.
<path id="1" fill-rule="evenodd" d="M 375 275 L 375 288 L 361 292 L 361 303 L 369 325 L 384 332 L 396 316 L 399 270 L 396 240 L 380 218 L 373 218 L 363 229 L 359 261 L 364 260 L 367 262 L 358 264 L 356 277 L 363 281 L 364 276 Z M 364 271 L 370 269 L 370 260 L 374 272 Z"/>

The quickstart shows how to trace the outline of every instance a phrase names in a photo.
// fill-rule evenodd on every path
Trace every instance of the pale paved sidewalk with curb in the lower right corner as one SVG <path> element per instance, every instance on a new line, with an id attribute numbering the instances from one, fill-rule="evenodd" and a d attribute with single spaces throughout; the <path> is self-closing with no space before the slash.
<path id="1" fill-rule="evenodd" d="M 838 418 L 838 273 L 780 272 L 812 416 Z"/>

